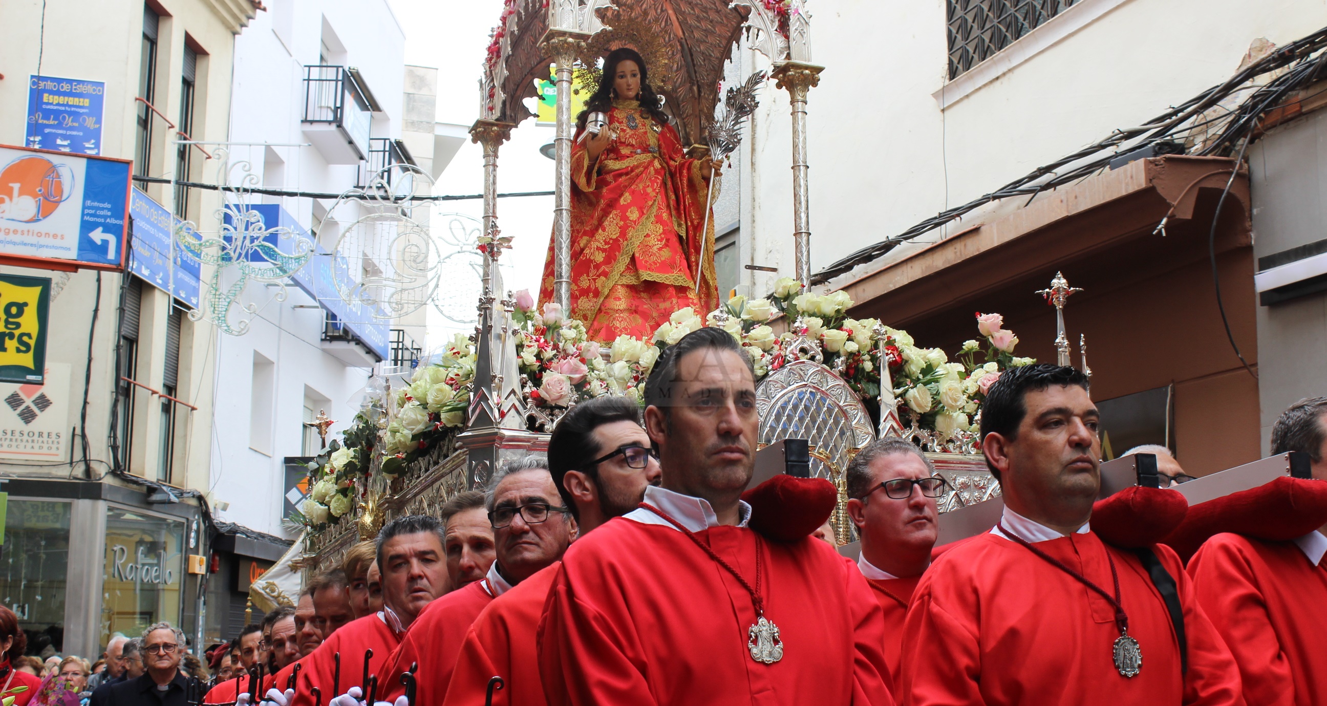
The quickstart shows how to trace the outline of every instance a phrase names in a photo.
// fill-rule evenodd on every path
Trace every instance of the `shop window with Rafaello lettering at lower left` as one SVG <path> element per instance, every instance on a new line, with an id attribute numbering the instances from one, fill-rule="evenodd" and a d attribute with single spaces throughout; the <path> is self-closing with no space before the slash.
<path id="1" fill-rule="evenodd" d="M 110 507 L 101 644 L 162 620 L 180 624 L 184 522 Z"/>

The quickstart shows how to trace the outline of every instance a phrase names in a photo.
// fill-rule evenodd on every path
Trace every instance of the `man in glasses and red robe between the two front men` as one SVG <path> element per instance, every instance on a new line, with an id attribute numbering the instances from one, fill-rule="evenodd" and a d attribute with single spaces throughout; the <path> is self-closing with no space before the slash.
<path id="1" fill-rule="evenodd" d="M 853 457 L 844 472 L 848 516 L 861 536 L 857 568 L 885 613 L 885 661 L 898 683 L 904 620 L 913 589 L 930 565 L 940 533 L 936 506 L 945 480 L 910 441 L 884 438 Z"/>

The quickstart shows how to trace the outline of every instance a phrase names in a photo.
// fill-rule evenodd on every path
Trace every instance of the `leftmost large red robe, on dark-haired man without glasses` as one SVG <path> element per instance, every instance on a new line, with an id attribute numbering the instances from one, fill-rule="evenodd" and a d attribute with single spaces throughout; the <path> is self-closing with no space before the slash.
<path id="1" fill-rule="evenodd" d="M 324 706 L 340 695 L 337 691 L 344 694 L 352 686 L 364 686 L 368 690 L 368 685 L 362 683 L 364 652 L 366 649 L 373 650 L 373 657 L 369 658 L 369 674 L 377 674 L 378 701 L 382 701 L 381 694 L 389 687 L 385 683 L 387 681 L 385 669 L 387 657 L 401 644 L 401 637 L 384 622 L 380 614 L 373 613 L 342 625 L 341 629 L 324 640 L 318 649 L 300 660 L 304 666 L 300 669 L 299 686 L 295 689 L 295 699 L 291 706 L 313 706 L 312 689 L 314 686 L 321 690 Z M 336 682 L 333 689 L 336 674 L 333 656 L 337 653 L 341 654 L 341 679 Z"/>

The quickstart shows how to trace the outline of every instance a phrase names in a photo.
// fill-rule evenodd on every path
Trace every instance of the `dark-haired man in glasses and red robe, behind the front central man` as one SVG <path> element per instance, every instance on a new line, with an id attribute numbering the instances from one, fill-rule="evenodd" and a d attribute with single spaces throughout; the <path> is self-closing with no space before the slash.
<path id="1" fill-rule="evenodd" d="M 625 397 L 596 397 L 571 409 L 548 439 L 548 467 L 579 536 L 640 504 L 657 484 L 660 466 L 640 422 L 641 410 Z M 486 706 L 488 681 L 502 677 L 494 706 L 544 706 L 539 678 L 537 628 L 555 561 L 494 599 L 466 634 L 443 706 Z"/>

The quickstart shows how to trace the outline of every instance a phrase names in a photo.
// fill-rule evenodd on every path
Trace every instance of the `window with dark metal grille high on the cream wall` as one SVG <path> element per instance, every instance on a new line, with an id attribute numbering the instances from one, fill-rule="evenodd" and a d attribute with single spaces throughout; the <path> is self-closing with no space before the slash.
<path id="1" fill-rule="evenodd" d="M 947 0 L 949 78 L 986 61 L 1080 0 Z"/>

